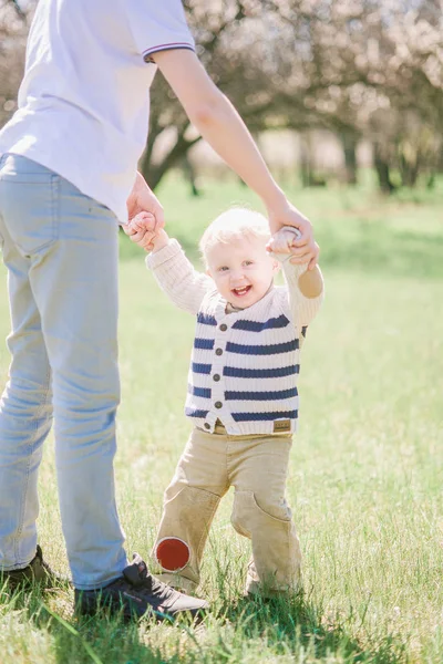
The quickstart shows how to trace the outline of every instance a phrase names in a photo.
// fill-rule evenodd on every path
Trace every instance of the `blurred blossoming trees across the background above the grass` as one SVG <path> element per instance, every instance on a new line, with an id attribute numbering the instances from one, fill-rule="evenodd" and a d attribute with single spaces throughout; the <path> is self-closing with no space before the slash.
<path id="1" fill-rule="evenodd" d="M 16 108 L 33 6 L 0 0 L 0 123 Z M 297 169 L 305 186 L 353 185 L 362 163 L 372 163 L 385 193 L 433 186 L 443 169 L 441 0 L 184 6 L 214 81 L 264 147 L 292 151 L 281 167 Z M 199 136 L 159 74 L 150 122 L 140 164 L 150 184 L 179 167 L 198 194 L 198 174 L 220 166 L 197 147 Z M 319 159 L 327 145 L 332 156 Z"/>

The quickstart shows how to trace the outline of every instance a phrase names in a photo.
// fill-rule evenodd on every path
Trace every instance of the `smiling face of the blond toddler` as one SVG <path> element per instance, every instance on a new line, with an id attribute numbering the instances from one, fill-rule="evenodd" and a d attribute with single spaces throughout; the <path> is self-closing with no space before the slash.
<path id="1" fill-rule="evenodd" d="M 266 251 L 265 238 L 254 236 L 217 242 L 206 252 L 206 260 L 218 292 L 239 309 L 261 300 L 279 268 Z"/>

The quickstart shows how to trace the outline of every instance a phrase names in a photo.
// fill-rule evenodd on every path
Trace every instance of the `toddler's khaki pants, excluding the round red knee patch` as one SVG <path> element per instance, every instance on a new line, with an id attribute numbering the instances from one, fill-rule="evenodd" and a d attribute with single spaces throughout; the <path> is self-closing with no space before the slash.
<path id="1" fill-rule="evenodd" d="M 218 433 L 224 432 L 224 433 Z M 246 591 L 274 594 L 297 591 L 300 546 L 285 499 L 290 435 L 229 436 L 194 429 L 165 492 L 157 543 L 164 538 L 184 540 L 190 549 L 185 568 L 161 569 L 162 581 L 193 591 L 199 583 L 200 561 L 220 498 L 235 487 L 231 523 L 249 538 L 253 558 Z"/>

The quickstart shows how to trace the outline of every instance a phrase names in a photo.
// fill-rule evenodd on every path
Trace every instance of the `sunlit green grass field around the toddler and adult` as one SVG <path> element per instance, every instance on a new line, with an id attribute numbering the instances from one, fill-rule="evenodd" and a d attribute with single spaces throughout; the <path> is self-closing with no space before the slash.
<path id="1" fill-rule="evenodd" d="M 207 548 L 199 591 L 213 613 L 203 626 L 79 621 L 70 591 L 3 593 L 1 664 L 443 662 L 443 191 L 383 200 L 368 183 L 290 194 L 315 222 L 327 284 L 303 347 L 288 483 L 303 599 L 241 598 L 249 551 L 230 527 L 229 495 Z M 206 183 L 204 196 L 190 199 L 169 178 L 159 196 L 171 235 L 195 259 L 209 219 L 231 203 L 257 205 L 231 181 Z M 189 432 L 183 403 L 193 329 L 122 237 L 115 467 L 127 549 L 144 557 Z M 0 336 L 7 332 L 2 278 Z M 2 344 L 1 380 L 8 361 Z M 66 571 L 52 440 L 41 499 L 41 544 Z"/>

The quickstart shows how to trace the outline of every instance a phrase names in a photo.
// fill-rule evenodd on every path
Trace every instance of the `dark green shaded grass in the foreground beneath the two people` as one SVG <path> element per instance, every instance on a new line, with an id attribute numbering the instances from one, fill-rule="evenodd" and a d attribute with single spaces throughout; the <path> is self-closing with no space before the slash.
<path id="1" fill-rule="evenodd" d="M 151 620 L 127 622 L 105 613 L 75 618 L 71 608 L 71 593 L 62 589 L 17 593 L 8 601 L 2 595 L 0 601 L 2 616 L 9 612 L 12 621 L 27 625 L 22 646 L 28 643 L 32 649 L 39 641 L 35 631 L 45 632 L 51 643 L 48 661 L 58 664 L 241 664 L 245 654 L 248 662 L 255 661 L 254 653 L 262 653 L 266 662 L 285 657 L 285 662 L 400 664 L 406 660 L 404 645 L 394 637 L 362 645 L 351 637 L 346 620 L 326 620 L 321 608 L 301 596 L 220 599 L 216 613 L 197 627 L 183 622 L 163 629 Z M 19 643 L 11 652 L 18 647 Z M 31 652 L 28 658 L 25 652 L 21 654 L 22 661 L 33 661 Z"/>

